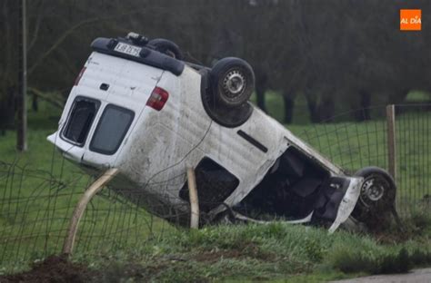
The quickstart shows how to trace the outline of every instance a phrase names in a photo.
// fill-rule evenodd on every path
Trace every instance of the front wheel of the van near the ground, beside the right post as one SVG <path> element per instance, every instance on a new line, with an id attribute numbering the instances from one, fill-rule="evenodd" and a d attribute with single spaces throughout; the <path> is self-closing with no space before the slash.
<path id="1" fill-rule="evenodd" d="M 364 177 L 359 200 L 352 217 L 369 229 L 384 229 L 395 208 L 396 183 L 392 176 L 378 167 L 366 167 L 355 176 Z"/>

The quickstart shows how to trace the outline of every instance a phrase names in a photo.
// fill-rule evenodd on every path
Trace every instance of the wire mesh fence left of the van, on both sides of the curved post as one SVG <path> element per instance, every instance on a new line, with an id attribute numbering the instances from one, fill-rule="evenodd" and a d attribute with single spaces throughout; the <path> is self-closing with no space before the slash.
<path id="1" fill-rule="evenodd" d="M 21 166 L 19 161 L 0 163 L 0 271 L 25 268 L 62 251 L 75 206 L 95 179 L 55 155 L 51 171 Z M 122 192 L 105 188 L 86 207 L 74 253 L 133 247 L 168 229 L 173 228 L 165 220 L 126 200 Z"/>

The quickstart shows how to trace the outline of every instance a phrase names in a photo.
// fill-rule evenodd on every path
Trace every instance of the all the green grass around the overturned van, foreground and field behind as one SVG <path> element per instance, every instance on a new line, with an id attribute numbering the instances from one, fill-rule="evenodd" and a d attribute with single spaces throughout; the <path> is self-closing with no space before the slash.
<path id="1" fill-rule="evenodd" d="M 270 114 L 281 119 L 280 97 L 271 93 L 267 99 Z M 398 183 L 400 196 L 413 195 L 412 200 L 421 201 L 426 193 L 431 194 L 431 171 L 423 166 L 431 159 L 429 129 L 424 122 L 431 115 L 414 114 L 397 120 L 398 155 L 403 161 Z M 29 112 L 25 153 L 15 151 L 15 132 L 0 136 L 0 161 L 5 162 L 0 165 L 0 187 L 4 188 L 0 194 L 0 274 L 27 268 L 29 260 L 43 259 L 61 249 L 75 203 L 91 181 L 45 140 L 55 131 L 59 115 L 47 103 L 41 103 L 39 112 Z M 307 118 L 303 115 L 301 122 L 286 127 L 346 171 L 367 165 L 386 168 L 383 119 L 311 125 L 304 124 Z M 74 259 L 106 270 L 103 276 L 114 278 L 130 275 L 124 270 L 131 271 L 131 260 L 139 274 L 175 281 L 345 278 L 384 272 L 386 266 L 394 270 L 397 260 L 429 264 L 430 223 L 423 214 L 417 215 L 410 231 L 418 232 L 407 233 L 400 243 L 398 239 L 382 243 L 345 231 L 328 236 L 325 229 L 283 223 L 188 231 L 175 229 L 104 190 L 85 213 Z M 99 258 L 100 254 L 104 257 Z M 349 269 L 345 259 L 359 268 Z"/>

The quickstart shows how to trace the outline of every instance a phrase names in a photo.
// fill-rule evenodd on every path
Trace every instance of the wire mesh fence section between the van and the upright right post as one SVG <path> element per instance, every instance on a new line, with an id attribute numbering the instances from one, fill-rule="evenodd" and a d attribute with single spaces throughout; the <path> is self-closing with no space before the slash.
<path id="1" fill-rule="evenodd" d="M 298 134 L 348 174 L 370 165 L 387 168 L 386 108 L 370 110 L 372 119 L 365 120 L 363 109 L 345 112 L 328 122 L 311 124 Z M 359 120 L 364 122 L 351 119 L 361 116 L 364 119 Z"/>

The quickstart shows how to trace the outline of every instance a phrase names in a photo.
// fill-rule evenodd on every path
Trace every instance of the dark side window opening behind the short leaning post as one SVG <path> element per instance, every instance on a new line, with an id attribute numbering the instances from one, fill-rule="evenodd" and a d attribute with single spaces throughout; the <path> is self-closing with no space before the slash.
<path id="1" fill-rule="evenodd" d="M 239 184 L 234 174 L 207 157 L 197 164 L 195 177 L 199 209 L 205 212 L 222 204 Z M 179 191 L 179 197 L 189 201 L 187 182 Z"/>

